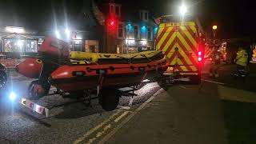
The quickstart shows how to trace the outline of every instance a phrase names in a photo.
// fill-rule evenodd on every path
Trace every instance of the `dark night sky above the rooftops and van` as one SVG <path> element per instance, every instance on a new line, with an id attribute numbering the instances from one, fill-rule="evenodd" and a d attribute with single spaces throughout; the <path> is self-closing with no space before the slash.
<path id="1" fill-rule="evenodd" d="M 120 0 L 119 0 L 120 1 Z M 64 7 L 66 18 L 78 22 L 82 0 L 0 0 L 0 26 L 28 26 L 37 30 L 50 30 L 54 26 L 54 13 L 62 22 Z M 123 0 L 123 5 L 134 8 L 142 6 L 154 15 L 174 14 L 180 0 Z M 134 5 L 134 3 L 139 4 Z M 222 38 L 256 38 L 255 6 L 252 0 L 183 0 L 190 12 L 198 15 L 205 30 L 218 25 L 218 36 Z"/>

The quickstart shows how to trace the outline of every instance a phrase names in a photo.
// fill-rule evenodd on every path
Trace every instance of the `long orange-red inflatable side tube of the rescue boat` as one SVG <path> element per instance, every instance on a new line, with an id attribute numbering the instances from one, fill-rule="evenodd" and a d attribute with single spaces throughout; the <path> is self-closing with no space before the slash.
<path id="1" fill-rule="evenodd" d="M 141 64 L 111 64 L 90 66 L 60 66 L 50 76 L 50 83 L 64 91 L 95 89 L 102 78 L 102 87 L 138 85 L 144 78 L 162 74 L 166 59 Z"/>

